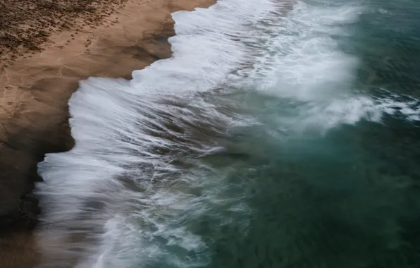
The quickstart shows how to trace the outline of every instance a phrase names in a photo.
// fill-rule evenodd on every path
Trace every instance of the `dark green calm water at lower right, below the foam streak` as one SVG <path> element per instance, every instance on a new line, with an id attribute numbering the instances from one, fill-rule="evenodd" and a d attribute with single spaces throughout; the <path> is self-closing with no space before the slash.
<path id="1" fill-rule="evenodd" d="M 257 170 L 251 175 L 257 194 L 249 200 L 255 218 L 247 238 L 226 231 L 212 267 L 411 267 L 420 243 L 409 228 L 419 219 L 419 182 L 401 166 L 407 161 L 381 159 L 381 151 L 391 153 L 381 146 L 392 146 L 389 137 L 376 140 L 377 147 L 366 139 L 384 128 L 365 122 L 306 145 L 328 154 L 280 146 L 270 148 L 269 161 L 247 162 Z M 404 157 L 415 161 L 413 149 Z"/>

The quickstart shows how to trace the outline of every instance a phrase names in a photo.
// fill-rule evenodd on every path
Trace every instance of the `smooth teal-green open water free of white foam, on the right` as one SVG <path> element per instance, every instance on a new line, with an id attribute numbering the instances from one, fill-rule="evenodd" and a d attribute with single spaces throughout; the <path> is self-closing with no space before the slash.
<path id="1" fill-rule="evenodd" d="M 351 92 L 419 97 L 419 3 L 362 5 L 357 21 L 342 25 L 347 35 L 332 37 L 359 59 Z M 209 162 L 246 181 L 252 219 L 245 233 L 235 224 L 223 229 L 209 267 L 420 267 L 418 121 L 397 109 L 381 122 L 273 135 L 273 118 L 299 104 L 258 94 L 242 102 L 264 123 L 237 130 L 226 154 Z"/>

